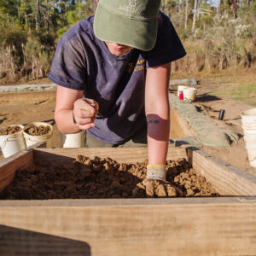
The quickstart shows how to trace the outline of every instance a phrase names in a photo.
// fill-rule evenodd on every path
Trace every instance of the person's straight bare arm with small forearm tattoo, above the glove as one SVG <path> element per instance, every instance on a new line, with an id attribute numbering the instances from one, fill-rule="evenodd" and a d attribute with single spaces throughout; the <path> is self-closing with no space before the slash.
<path id="1" fill-rule="evenodd" d="M 171 63 L 147 70 L 145 110 L 148 122 L 148 164 L 165 165 L 169 143 L 168 87 Z"/>

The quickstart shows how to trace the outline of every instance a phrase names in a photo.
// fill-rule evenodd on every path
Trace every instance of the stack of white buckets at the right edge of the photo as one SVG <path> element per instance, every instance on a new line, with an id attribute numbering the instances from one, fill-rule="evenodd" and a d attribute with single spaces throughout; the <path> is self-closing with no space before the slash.
<path id="1" fill-rule="evenodd" d="M 256 167 L 256 108 L 241 113 L 241 127 L 250 165 Z"/>

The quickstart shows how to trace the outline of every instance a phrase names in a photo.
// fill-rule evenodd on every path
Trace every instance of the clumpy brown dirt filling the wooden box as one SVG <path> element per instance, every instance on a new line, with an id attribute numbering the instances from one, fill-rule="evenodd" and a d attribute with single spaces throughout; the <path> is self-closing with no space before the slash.
<path id="1" fill-rule="evenodd" d="M 73 163 L 18 170 L 0 199 L 143 198 L 216 196 L 204 177 L 184 159 L 166 162 L 167 182 L 145 180 L 148 161 L 118 163 L 79 155 Z"/>

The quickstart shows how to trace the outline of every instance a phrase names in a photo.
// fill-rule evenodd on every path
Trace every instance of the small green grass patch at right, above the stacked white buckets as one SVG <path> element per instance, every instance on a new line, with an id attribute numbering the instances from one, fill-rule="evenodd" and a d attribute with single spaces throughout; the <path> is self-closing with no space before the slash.
<path id="1" fill-rule="evenodd" d="M 227 84 L 211 91 L 211 96 L 245 102 L 256 107 L 256 82 L 242 84 Z"/>

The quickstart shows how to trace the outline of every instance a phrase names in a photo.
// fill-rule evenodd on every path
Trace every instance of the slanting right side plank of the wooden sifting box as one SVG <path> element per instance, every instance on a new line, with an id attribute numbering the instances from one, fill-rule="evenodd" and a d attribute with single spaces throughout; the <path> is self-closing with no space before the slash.
<path id="1" fill-rule="evenodd" d="M 220 195 L 256 195 L 255 176 L 218 160 L 199 148 L 189 147 L 187 150 L 195 171 L 206 177 Z"/>

